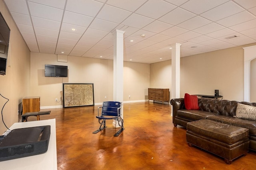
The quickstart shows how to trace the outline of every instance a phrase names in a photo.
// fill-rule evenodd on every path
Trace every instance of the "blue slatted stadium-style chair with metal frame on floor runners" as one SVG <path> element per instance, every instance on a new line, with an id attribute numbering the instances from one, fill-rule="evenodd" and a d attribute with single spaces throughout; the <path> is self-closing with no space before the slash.
<path id="1" fill-rule="evenodd" d="M 120 135 L 120 133 L 124 131 L 124 120 L 121 117 L 121 107 L 121 102 L 103 102 L 102 106 L 98 107 L 98 116 L 96 116 L 100 123 L 100 128 L 93 133 L 95 134 L 102 131 L 103 129 L 106 129 L 107 119 L 115 119 L 116 121 L 118 121 L 118 125 L 121 127 L 121 129 L 119 129 L 119 131 L 117 131 L 114 136 L 117 137 L 118 135 Z"/>

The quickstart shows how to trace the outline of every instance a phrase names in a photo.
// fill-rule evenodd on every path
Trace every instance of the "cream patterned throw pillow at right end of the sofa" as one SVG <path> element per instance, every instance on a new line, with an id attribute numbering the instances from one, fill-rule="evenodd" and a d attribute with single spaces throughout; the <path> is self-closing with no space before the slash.
<path id="1" fill-rule="evenodd" d="M 234 117 L 256 120 L 256 107 L 238 103 Z"/>

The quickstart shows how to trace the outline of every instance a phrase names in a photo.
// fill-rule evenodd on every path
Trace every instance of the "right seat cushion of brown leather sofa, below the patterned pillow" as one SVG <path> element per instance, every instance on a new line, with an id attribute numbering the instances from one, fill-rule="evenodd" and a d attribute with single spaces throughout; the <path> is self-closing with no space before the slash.
<path id="1" fill-rule="evenodd" d="M 253 120 L 240 119 L 237 117 L 222 116 L 222 115 L 207 117 L 207 119 L 218 121 L 220 123 L 225 123 L 228 125 L 244 127 L 246 129 L 249 129 L 250 135 L 256 135 L 256 121 L 253 121 Z"/>

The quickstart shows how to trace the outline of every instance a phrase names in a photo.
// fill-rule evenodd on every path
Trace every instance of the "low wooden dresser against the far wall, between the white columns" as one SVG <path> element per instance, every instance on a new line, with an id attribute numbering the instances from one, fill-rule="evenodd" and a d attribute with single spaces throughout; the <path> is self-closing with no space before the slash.
<path id="1" fill-rule="evenodd" d="M 148 88 L 148 101 L 157 100 L 164 102 L 170 102 L 170 91 L 168 88 Z"/>

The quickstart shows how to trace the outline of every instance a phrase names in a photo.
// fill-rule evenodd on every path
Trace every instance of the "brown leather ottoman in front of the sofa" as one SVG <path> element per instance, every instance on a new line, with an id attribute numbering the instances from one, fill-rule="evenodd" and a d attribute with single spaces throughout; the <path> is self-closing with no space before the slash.
<path id="1" fill-rule="evenodd" d="M 222 158 L 226 164 L 249 150 L 249 130 L 208 119 L 187 123 L 186 141 Z"/>

